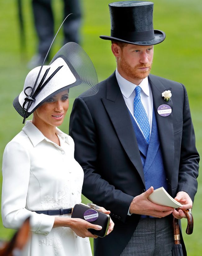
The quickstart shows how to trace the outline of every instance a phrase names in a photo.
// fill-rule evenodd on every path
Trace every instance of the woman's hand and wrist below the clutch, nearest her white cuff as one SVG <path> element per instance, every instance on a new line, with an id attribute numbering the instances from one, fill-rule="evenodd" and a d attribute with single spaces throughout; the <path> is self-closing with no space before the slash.
<path id="1" fill-rule="evenodd" d="M 88 229 L 101 230 L 102 227 L 99 225 L 94 225 L 86 220 L 79 218 L 65 218 L 65 217 L 55 217 L 53 227 L 69 227 L 71 228 L 76 235 L 84 237 L 97 238 L 97 235 L 93 235 L 88 231 Z"/>

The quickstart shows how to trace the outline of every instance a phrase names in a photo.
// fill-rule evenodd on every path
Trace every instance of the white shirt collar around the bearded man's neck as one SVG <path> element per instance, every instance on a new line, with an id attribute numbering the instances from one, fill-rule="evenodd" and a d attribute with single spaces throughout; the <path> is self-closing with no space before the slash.
<path id="1" fill-rule="evenodd" d="M 131 83 L 130 81 L 126 80 L 125 78 L 123 78 L 119 73 L 118 70 L 116 69 L 116 78 L 117 78 L 117 82 L 118 85 L 121 89 L 121 92 L 123 94 L 123 96 L 127 99 L 131 96 L 131 94 L 134 92 L 135 87 L 137 86 L 134 83 Z M 142 82 L 139 84 L 139 86 L 141 87 L 142 91 L 149 96 L 149 81 L 148 81 L 148 77 L 144 78 L 142 80 Z"/>

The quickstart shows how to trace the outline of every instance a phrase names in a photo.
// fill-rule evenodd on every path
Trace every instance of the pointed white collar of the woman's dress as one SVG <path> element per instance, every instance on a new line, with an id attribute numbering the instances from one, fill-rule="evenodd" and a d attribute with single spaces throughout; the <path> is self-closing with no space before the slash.
<path id="1" fill-rule="evenodd" d="M 48 140 L 43 133 L 35 126 L 30 120 L 27 120 L 25 123 L 25 126 L 22 128 L 22 130 L 26 133 L 26 135 L 31 140 L 33 146 L 39 144 L 42 140 Z M 65 141 L 69 144 L 68 135 L 64 132 L 62 132 L 60 129 L 56 127 L 56 134 L 59 136 L 63 136 L 65 138 Z"/>

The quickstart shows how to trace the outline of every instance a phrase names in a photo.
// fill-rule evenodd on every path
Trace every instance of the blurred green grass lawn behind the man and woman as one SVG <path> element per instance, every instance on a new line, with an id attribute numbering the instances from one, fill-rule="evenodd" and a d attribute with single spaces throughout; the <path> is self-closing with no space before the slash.
<path id="1" fill-rule="evenodd" d="M 12 106 L 12 101 L 22 90 L 29 70 L 27 62 L 35 53 L 37 38 L 34 32 L 31 1 L 23 2 L 25 19 L 26 48 L 20 52 L 20 36 L 16 12 L 16 1 L 1 1 L 0 9 L 0 165 L 5 145 L 22 128 L 22 117 Z M 98 73 L 99 81 L 107 78 L 115 69 L 115 59 L 110 42 L 101 40 L 99 35 L 110 35 L 109 0 L 84 0 L 81 45 L 90 55 Z M 154 47 L 153 74 L 185 84 L 190 101 L 195 127 L 196 145 L 202 153 L 202 3 L 200 0 L 154 0 L 154 28 L 165 31 L 165 41 Z M 62 1 L 53 0 L 55 28 L 62 21 Z M 122 17 L 120 17 L 121 19 Z M 62 44 L 62 31 L 53 45 L 52 54 Z M 62 130 L 68 133 L 69 115 L 73 100 Z M 166 134 L 165 134 L 166 136 Z M 2 176 L 0 175 L 0 189 Z M 195 197 L 193 215 L 194 232 L 186 235 L 186 220 L 182 221 L 184 240 L 188 255 L 201 255 L 202 230 L 202 180 Z M 85 199 L 84 199 L 85 201 Z M 3 227 L 0 218 L 0 239 L 9 239 L 13 230 Z"/>

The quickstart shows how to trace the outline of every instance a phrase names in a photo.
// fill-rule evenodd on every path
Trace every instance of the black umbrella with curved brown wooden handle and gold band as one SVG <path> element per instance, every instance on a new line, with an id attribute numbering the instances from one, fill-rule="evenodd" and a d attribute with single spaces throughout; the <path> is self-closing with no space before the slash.
<path id="1" fill-rule="evenodd" d="M 177 210 L 179 210 L 178 208 Z M 187 217 L 187 228 L 186 228 L 186 234 L 191 235 L 193 232 L 193 227 L 194 227 L 194 220 L 191 211 L 189 209 L 184 210 L 181 209 L 186 217 Z M 172 248 L 172 256 L 183 256 L 183 251 L 182 251 L 182 245 L 180 243 L 180 229 L 179 229 L 179 220 L 173 217 L 172 221 L 173 225 L 173 234 L 174 234 L 174 245 Z"/>

